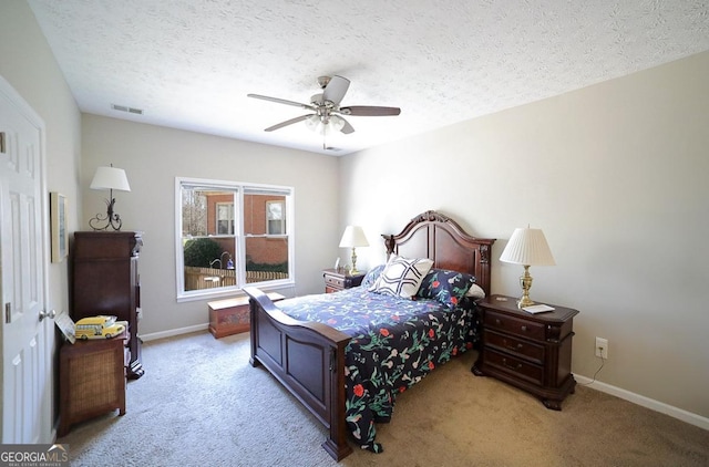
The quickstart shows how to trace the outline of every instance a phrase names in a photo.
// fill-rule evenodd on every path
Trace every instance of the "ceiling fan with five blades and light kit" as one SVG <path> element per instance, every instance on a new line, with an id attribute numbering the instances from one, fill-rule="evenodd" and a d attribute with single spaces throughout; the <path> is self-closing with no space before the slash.
<path id="1" fill-rule="evenodd" d="M 275 129 L 282 128 L 284 126 L 305 121 L 308 128 L 317 133 L 321 133 L 323 136 L 335 132 L 341 132 L 348 135 L 354 132 L 354 128 L 348 121 L 341 117 L 341 115 L 389 116 L 399 115 L 401 113 L 401 108 L 399 107 L 380 107 L 372 105 L 348 105 L 341 107 L 340 102 L 342 102 L 342 97 L 345 97 L 345 94 L 350 86 L 350 80 L 347 77 L 338 75 L 320 76 L 318 77 L 318 84 L 322 92 L 310 97 L 309 104 L 260 94 L 247 95 L 248 97 L 261 98 L 264 101 L 276 102 L 278 104 L 292 105 L 311 112 L 269 126 L 265 129 L 266 132 L 273 132 Z"/>

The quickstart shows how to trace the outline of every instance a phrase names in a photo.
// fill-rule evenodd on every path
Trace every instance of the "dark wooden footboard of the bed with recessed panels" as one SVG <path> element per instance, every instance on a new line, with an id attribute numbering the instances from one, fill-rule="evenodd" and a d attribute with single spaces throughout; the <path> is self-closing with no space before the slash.
<path id="1" fill-rule="evenodd" d="M 249 300 L 253 366 L 263 364 L 329 430 L 322 444 L 332 458 L 352 453 L 345 422 L 345 347 L 350 338 L 320 323 L 282 313 L 259 289 Z"/>

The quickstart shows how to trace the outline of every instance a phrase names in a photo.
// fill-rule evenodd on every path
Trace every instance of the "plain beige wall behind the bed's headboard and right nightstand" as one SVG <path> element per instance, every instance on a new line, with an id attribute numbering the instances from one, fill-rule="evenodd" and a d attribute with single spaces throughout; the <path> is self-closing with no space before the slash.
<path id="1" fill-rule="evenodd" d="M 342 158 L 341 227 L 370 239 L 438 209 L 493 247 L 542 228 L 533 300 L 576 308 L 573 371 L 709 417 L 709 52 Z M 405 106 L 402 112 L 405 112 Z M 387 170 L 381 170 L 387 167 Z M 383 260 L 358 249 L 360 269 Z"/>

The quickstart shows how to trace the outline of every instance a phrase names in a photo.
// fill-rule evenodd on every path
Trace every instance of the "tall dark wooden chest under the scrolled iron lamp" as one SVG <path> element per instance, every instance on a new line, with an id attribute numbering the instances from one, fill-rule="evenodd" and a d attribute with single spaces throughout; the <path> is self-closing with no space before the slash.
<path id="1" fill-rule="evenodd" d="M 141 362 L 138 312 L 141 280 L 138 255 L 142 232 L 74 232 L 72 251 L 71 318 L 79 321 L 96 314 L 115 315 L 127 321 L 131 362 L 129 378 L 144 373 Z"/>

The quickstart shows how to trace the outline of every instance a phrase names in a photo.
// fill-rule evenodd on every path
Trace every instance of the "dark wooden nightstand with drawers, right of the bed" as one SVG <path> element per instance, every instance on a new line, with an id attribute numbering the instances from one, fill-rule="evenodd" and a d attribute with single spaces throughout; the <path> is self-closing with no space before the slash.
<path id="1" fill-rule="evenodd" d="M 472 372 L 493 376 L 524 390 L 554 411 L 573 394 L 572 338 L 578 310 L 553 307 L 532 314 L 517 309 L 517 299 L 492 295 L 477 302 L 483 339 Z"/>

